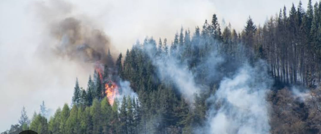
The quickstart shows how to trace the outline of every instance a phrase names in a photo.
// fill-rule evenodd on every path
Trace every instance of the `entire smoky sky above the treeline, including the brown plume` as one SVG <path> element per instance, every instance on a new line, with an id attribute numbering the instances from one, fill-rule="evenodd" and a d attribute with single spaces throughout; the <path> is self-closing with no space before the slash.
<path id="1" fill-rule="evenodd" d="M 279 5 L 289 7 L 291 2 L 273 0 L 270 6 L 264 3 L 254 8 L 252 5 L 257 4 L 254 0 L 243 3 L 232 0 L 3 0 L 0 2 L 0 97 L 3 100 L 0 131 L 17 123 L 22 106 L 26 106 L 31 118 L 34 111 L 39 111 L 42 100 L 52 109 L 70 103 L 75 77 L 81 86 L 87 85 L 88 76 L 93 72 L 92 61 L 103 57 L 99 55 L 106 54 L 108 49 L 112 54 L 124 54 L 136 39 L 142 40 L 146 35 L 167 37 L 171 41 L 182 25 L 193 32 L 196 25 L 201 26 L 214 12 L 220 20 L 221 16 L 227 17 L 225 22 L 231 22 L 236 29 L 244 27 L 248 15 L 262 24 L 266 18 L 262 14 L 274 14 L 281 8 Z M 233 8 L 230 3 L 234 3 Z M 294 4 L 297 5 L 297 1 Z M 306 1 L 303 6 L 306 7 Z M 81 30 L 56 28 L 66 23 L 79 24 Z M 94 42 L 97 40 L 92 38 L 100 39 Z"/>

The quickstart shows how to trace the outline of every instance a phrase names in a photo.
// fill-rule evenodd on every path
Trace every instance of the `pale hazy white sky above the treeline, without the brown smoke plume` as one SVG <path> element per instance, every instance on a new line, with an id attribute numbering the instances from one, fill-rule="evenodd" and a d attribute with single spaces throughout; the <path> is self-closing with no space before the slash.
<path id="1" fill-rule="evenodd" d="M 307 1 L 302 1 L 306 9 Z M 40 0 L 0 1 L 0 132 L 17 123 L 22 106 L 31 118 L 44 100 L 56 110 L 70 104 L 75 77 L 86 87 L 92 68 L 63 58 L 39 55 L 46 29 L 35 10 Z M 88 16 L 110 37 L 119 52 L 153 36 L 171 40 L 180 27 L 202 26 L 216 13 L 226 25 L 242 29 L 250 15 L 256 25 L 299 0 L 70 0 L 74 15 Z M 313 1 L 313 4 L 315 1 Z M 57 10 L 59 12 L 59 9 Z M 48 16 L 50 17 L 50 16 Z"/>

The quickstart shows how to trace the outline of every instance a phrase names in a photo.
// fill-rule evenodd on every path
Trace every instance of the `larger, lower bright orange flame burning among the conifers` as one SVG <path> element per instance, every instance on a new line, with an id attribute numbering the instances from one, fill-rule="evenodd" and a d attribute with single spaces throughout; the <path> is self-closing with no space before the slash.
<path id="1" fill-rule="evenodd" d="M 105 93 L 108 98 L 108 102 L 110 105 L 114 104 L 114 99 L 118 94 L 118 86 L 114 82 L 106 83 L 105 84 Z"/>

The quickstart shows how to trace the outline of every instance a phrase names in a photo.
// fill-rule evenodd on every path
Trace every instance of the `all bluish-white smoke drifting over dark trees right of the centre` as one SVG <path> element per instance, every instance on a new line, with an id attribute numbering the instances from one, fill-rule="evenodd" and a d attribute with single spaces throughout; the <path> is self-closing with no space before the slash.
<path id="1" fill-rule="evenodd" d="M 157 52 L 153 44 L 144 45 L 143 48 L 157 68 L 160 80 L 173 83 L 192 110 L 194 95 L 212 88 L 197 81 L 197 73 L 202 73 L 200 69 L 206 70 L 207 80 L 218 83 L 218 89 L 206 100 L 209 106 L 207 121 L 204 126 L 195 127 L 194 133 L 268 134 L 270 106 L 266 95 L 272 88 L 273 80 L 268 75 L 267 64 L 259 60 L 253 64 L 237 62 L 238 66 L 235 66 L 230 63 L 235 60 L 229 61 L 224 53 L 217 51 L 220 49 L 215 49 L 221 48 L 221 45 L 213 44 L 211 53 L 194 67 L 197 71 L 189 69 L 186 61 L 178 60 L 178 55 L 183 53 L 180 48 L 171 55 L 162 56 L 155 56 Z M 239 44 L 239 47 L 242 45 Z M 238 58 L 247 61 L 244 56 Z"/>

